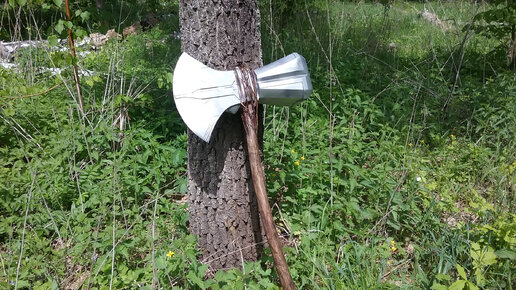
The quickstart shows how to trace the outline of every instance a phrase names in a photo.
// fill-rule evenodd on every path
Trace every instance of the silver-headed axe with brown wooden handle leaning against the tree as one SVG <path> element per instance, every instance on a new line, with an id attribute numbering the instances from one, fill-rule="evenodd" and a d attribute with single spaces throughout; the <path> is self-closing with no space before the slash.
<path id="1" fill-rule="evenodd" d="M 295 289 L 272 217 L 258 147 L 258 103 L 293 105 L 307 99 L 312 83 L 305 59 L 292 53 L 256 70 L 245 65 L 218 71 L 183 53 L 176 64 L 173 93 L 188 128 L 209 142 L 222 113 L 242 107 L 247 149 L 258 209 L 274 264 L 284 289 Z"/>

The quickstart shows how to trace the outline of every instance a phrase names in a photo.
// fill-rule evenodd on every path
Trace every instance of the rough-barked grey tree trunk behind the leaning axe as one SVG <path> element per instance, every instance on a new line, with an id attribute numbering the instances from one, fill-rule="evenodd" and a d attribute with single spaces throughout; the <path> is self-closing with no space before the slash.
<path id="1" fill-rule="evenodd" d="M 219 70 L 260 67 L 256 0 L 180 1 L 182 48 Z M 190 231 L 213 270 L 257 260 L 263 247 L 240 114 L 224 113 L 209 143 L 188 132 Z"/>

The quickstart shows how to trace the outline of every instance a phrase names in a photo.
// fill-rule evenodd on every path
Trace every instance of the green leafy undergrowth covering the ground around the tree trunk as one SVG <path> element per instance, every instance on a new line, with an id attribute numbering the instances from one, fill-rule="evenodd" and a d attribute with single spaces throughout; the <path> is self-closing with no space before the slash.
<path id="1" fill-rule="evenodd" d="M 489 35 L 460 45 L 476 4 L 323 2 L 262 9 L 265 62 L 298 51 L 314 86 L 265 118 L 296 285 L 511 289 L 516 82 Z M 446 26 L 418 17 L 424 7 Z M 1 288 L 277 288 L 267 251 L 226 272 L 196 259 L 167 29 L 79 60 L 95 72 L 82 79 L 85 117 L 66 60 L 60 76 L 0 70 Z M 33 55 L 47 54 L 19 61 Z"/>

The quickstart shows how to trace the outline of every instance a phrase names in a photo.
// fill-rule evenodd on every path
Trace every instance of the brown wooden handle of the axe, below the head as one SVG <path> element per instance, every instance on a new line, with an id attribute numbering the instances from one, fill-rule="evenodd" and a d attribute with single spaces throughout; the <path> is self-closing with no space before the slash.
<path id="1" fill-rule="evenodd" d="M 265 235 L 267 236 L 267 241 L 269 242 L 269 246 L 271 248 L 272 257 L 274 258 L 274 265 L 276 267 L 276 271 L 278 272 L 280 283 L 283 289 L 297 289 L 288 270 L 287 261 L 285 260 L 285 255 L 283 254 L 283 246 L 279 239 L 278 232 L 276 231 L 276 225 L 274 224 L 271 207 L 269 205 L 269 199 L 267 197 L 265 175 L 260 158 L 260 150 L 258 147 L 258 136 L 256 133 L 257 128 L 253 126 L 255 123 L 251 120 L 251 114 L 243 113 L 242 118 L 249 118 L 247 120 L 244 119 L 244 126 L 246 129 L 247 151 L 249 154 L 251 175 L 256 192 L 256 199 L 258 201 L 258 210 L 260 211 L 262 225 L 265 228 Z"/>

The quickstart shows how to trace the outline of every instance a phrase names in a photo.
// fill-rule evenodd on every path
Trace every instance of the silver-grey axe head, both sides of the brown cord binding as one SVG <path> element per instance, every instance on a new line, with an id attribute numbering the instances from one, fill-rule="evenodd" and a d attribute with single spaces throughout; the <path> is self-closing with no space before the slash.
<path id="1" fill-rule="evenodd" d="M 258 68 L 254 73 L 261 104 L 289 106 L 307 99 L 312 92 L 306 61 L 298 53 Z M 234 114 L 240 106 L 235 73 L 209 68 L 187 53 L 177 61 L 173 92 L 181 118 L 206 142 L 222 113 Z"/>

